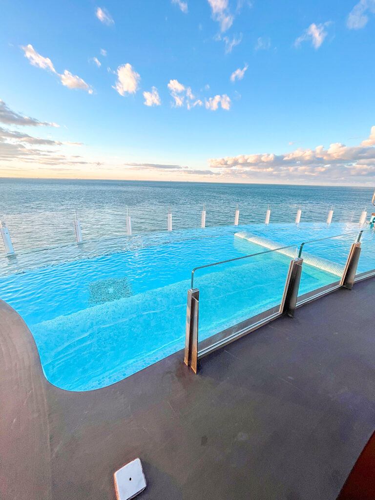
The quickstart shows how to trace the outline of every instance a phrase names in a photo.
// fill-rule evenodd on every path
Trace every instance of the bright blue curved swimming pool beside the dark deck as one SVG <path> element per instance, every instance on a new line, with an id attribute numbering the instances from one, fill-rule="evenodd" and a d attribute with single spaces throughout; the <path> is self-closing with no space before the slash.
<path id="1" fill-rule="evenodd" d="M 0 298 L 27 323 L 51 383 L 96 389 L 183 348 L 192 268 L 265 249 L 236 233 L 282 246 L 356 230 L 357 224 L 341 223 L 248 224 L 25 253 L 1 261 Z M 354 237 L 311 243 L 304 251 L 342 266 Z M 358 272 L 375 268 L 371 238 L 363 236 Z M 279 304 L 289 262 L 271 252 L 196 271 L 199 339 Z M 339 279 L 337 267 L 307 262 L 300 294 Z"/>

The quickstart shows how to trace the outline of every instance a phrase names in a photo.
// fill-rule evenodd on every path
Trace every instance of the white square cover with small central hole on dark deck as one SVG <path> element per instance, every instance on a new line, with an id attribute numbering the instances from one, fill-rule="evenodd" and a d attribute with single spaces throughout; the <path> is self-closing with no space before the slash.
<path id="1" fill-rule="evenodd" d="M 130 500 L 146 487 L 142 464 L 139 458 L 126 463 L 114 472 L 117 500 Z"/>

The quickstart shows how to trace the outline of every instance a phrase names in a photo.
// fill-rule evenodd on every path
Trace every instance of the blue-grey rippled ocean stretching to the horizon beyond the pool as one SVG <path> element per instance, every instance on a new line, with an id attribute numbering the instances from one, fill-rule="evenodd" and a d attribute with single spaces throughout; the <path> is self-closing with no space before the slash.
<path id="1" fill-rule="evenodd" d="M 230 225 L 239 205 L 239 223 L 293 222 L 301 203 L 301 222 L 325 221 L 331 204 L 333 222 L 357 222 L 373 189 L 347 186 L 156 182 L 138 180 L 0 179 L 0 219 L 6 222 L 16 251 L 75 241 L 74 210 L 83 239 L 126 234 L 126 209 L 133 234 L 200 226 Z M 0 238 L 0 253 L 3 252 Z"/>

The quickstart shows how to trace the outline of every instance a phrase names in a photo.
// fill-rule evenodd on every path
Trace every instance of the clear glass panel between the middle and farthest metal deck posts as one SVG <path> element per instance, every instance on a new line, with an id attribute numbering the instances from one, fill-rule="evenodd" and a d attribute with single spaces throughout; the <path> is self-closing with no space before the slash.
<path id="1" fill-rule="evenodd" d="M 303 243 L 298 297 L 340 281 L 356 233 L 341 234 Z"/>

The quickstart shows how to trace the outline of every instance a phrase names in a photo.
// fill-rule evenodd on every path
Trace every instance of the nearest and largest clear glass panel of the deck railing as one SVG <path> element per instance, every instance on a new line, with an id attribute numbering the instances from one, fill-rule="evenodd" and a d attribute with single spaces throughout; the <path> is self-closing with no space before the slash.
<path id="1" fill-rule="evenodd" d="M 259 249 L 246 244 L 247 249 Z M 295 252 L 296 246 L 257 251 L 197 269 L 193 286 L 199 288 L 199 341 L 278 306 Z"/>

